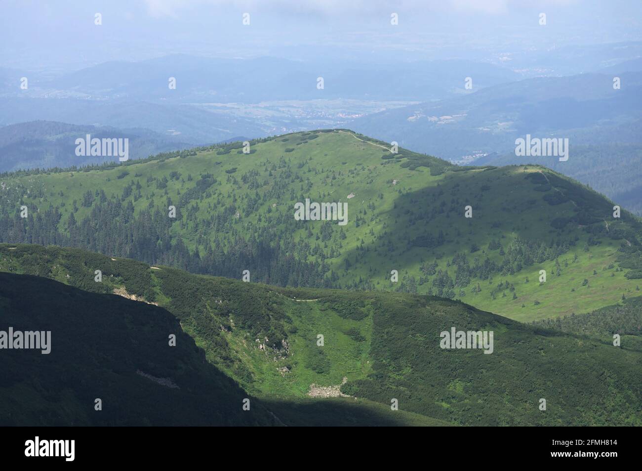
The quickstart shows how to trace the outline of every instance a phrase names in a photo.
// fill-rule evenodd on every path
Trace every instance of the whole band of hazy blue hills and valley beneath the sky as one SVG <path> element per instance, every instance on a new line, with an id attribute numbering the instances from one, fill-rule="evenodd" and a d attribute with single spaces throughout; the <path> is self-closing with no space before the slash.
<path id="1" fill-rule="evenodd" d="M 365 58 L 315 62 L 180 54 L 108 62 L 56 78 L 0 69 L 0 87 L 6 84 L 0 89 L 0 125 L 49 120 L 143 128 L 193 146 L 350 127 L 467 164 L 484 154 L 512 152 L 515 139 L 526 134 L 568 137 L 573 147 L 642 144 L 639 48 L 638 43 L 562 48 L 548 58 L 559 70 L 540 70 L 537 64 L 545 60 L 536 53 L 532 63 L 507 56 L 514 70 L 471 60 L 388 65 Z M 576 74 L 586 73 L 551 76 L 571 73 L 569 62 L 580 64 L 573 67 Z M 30 78 L 27 90 L 19 88 L 23 74 Z M 615 75 L 619 90 L 613 89 Z M 177 80 L 175 89 L 168 86 L 170 78 Z M 164 150 L 160 145 L 159 152 Z M 634 209 L 629 200 L 627 205 Z"/>

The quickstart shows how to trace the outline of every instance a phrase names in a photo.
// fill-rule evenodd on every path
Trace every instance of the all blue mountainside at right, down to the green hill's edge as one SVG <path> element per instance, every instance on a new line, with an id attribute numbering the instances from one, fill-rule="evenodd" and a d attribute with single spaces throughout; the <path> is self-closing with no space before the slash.
<path id="1" fill-rule="evenodd" d="M 639 73 L 626 71 L 638 62 L 613 66 L 610 75 L 497 85 L 461 98 L 370 114 L 351 127 L 460 164 L 548 166 L 642 214 L 642 82 Z M 621 80 L 618 90 L 613 88 L 615 73 Z M 568 138 L 569 160 L 516 157 L 515 140 L 526 134 Z"/>

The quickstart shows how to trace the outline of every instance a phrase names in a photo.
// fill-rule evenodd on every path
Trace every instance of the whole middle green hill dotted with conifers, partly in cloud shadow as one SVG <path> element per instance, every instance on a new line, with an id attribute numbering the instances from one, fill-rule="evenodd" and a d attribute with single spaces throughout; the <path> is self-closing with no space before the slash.
<path id="1" fill-rule="evenodd" d="M 614 218 L 613 202 L 542 166 L 462 168 L 392 154 L 349 130 L 241 147 L 2 175 L 0 242 L 229 278 L 247 270 L 272 285 L 434 294 L 521 321 L 589 312 L 639 290 L 639 220 L 624 210 Z M 295 220 L 306 199 L 347 203 L 347 224 Z"/>

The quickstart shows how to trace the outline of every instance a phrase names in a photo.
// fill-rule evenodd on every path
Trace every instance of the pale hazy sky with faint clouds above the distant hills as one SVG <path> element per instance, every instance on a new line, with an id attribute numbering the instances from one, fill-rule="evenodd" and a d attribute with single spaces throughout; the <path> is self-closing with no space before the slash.
<path id="1" fill-rule="evenodd" d="M 0 66 L 68 71 L 170 53 L 484 60 L 642 40 L 641 19 L 639 0 L 3 0 Z"/>

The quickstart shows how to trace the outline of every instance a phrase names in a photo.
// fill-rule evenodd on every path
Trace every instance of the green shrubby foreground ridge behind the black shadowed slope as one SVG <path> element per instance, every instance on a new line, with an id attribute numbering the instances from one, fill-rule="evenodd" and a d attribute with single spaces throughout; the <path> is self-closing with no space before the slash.
<path id="1" fill-rule="evenodd" d="M 96 270 L 102 272 L 100 282 L 95 281 Z M 110 337 L 109 332 L 122 335 L 120 321 L 115 322 L 123 312 L 121 307 L 131 310 L 139 305 L 146 313 L 140 322 L 148 327 L 135 337 L 141 344 L 146 339 L 164 339 L 164 330 L 180 323 L 204 350 L 211 366 L 238 380 L 286 425 L 338 421 L 641 425 L 639 330 L 623 332 L 622 346 L 616 348 L 608 337 L 527 326 L 449 299 L 271 287 L 150 267 L 79 249 L 37 245 L 0 245 L 0 271 L 14 273 L 0 275 L 4 298 L 17 296 L 4 293 L 15 293 L 24 285 L 21 306 L 40 313 L 34 314 L 41 316 L 38 319 L 51 312 L 40 305 L 40 299 L 53 299 L 54 307 L 58 306 L 56 299 L 65 299 L 60 311 L 66 313 L 65 322 L 75 320 L 76 329 L 86 329 L 94 323 L 95 315 L 100 319 L 95 321 L 97 332 L 107 332 L 101 337 L 103 341 Z M 60 280 L 75 289 L 34 276 L 22 276 L 16 285 L 12 281 L 18 277 L 15 273 Z M 23 283 L 23 279 L 32 284 Z M 42 285 L 42 294 L 38 294 L 36 283 Z M 48 286 L 56 287 L 55 292 L 49 292 Z M 138 301 L 119 300 L 108 294 L 112 292 Z M 93 305 L 73 306 L 73 296 L 80 297 L 80 293 Z M 101 305 L 96 296 L 101 296 L 104 308 L 96 307 Z M 157 318 L 168 311 L 176 319 L 162 328 Z M 91 315 L 92 323 L 78 322 L 82 315 Z M 56 332 L 56 323 L 50 322 L 45 325 Z M 136 322 L 126 324 L 137 328 Z M 440 348 L 440 332 L 452 327 L 494 332 L 492 354 Z M 157 329 L 163 335 L 155 333 Z M 67 337 L 58 333 L 54 338 L 76 342 L 78 334 Z M 319 345 L 318 335 L 324 336 L 323 345 Z M 180 338 L 181 344 L 191 345 Z M 87 339 L 92 341 L 100 339 Z M 91 351 L 78 355 L 76 361 L 89 362 L 92 355 Z M 129 369 L 143 369 L 134 363 L 126 360 L 131 364 Z M 157 369 L 151 364 L 143 366 L 155 376 L 177 378 L 169 365 L 159 361 Z M 78 368 L 95 366 L 82 364 Z M 184 384 L 180 376 L 176 382 Z M 336 395 L 339 388 L 358 400 L 309 396 L 311 391 Z M 390 411 L 393 398 L 399 401 L 399 412 L 409 414 Z M 538 408 L 541 398 L 548 404 L 546 411 Z"/>

